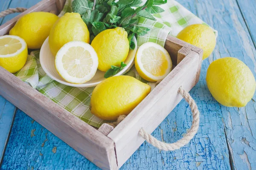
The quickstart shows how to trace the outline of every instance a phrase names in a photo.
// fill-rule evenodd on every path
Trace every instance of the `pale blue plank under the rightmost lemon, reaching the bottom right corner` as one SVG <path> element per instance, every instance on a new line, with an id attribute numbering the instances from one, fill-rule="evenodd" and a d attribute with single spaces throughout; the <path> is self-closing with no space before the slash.
<path id="1" fill-rule="evenodd" d="M 252 41 L 255 40 L 253 35 L 256 25 L 255 19 L 248 17 L 249 13 L 250 16 L 255 16 L 255 0 L 198 0 L 197 2 L 182 0 L 182 4 L 218 30 L 215 52 L 202 65 L 205 71 L 209 62 L 231 56 L 243 61 L 256 77 L 256 50 Z M 205 77 L 204 73 L 202 75 Z M 256 169 L 255 101 L 256 95 L 244 108 L 227 108 L 222 105 L 216 107 L 218 115 L 224 122 L 230 162 L 234 170 Z M 206 102 L 212 105 L 216 101 L 207 99 Z"/>

